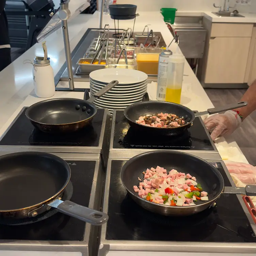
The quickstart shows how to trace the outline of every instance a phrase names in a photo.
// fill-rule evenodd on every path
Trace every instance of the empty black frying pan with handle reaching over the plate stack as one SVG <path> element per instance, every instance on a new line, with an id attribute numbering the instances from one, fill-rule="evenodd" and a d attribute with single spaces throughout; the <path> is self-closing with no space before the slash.
<path id="1" fill-rule="evenodd" d="M 48 99 L 31 105 L 26 116 L 32 125 L 43 132 L 75 132 L 92 123 L 97 107 L 92 103 L 111 90 L 118 81 L 114 80 L 85 100 L 73 98 Z M 85 94 L 86 95 L 86 94 Z"/>

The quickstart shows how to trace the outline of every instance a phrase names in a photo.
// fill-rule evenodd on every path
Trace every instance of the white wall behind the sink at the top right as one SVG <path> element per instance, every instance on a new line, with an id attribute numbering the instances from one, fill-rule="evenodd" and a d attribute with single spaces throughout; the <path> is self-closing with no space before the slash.
<path id="1" fill-rule="evenodd" d="M 234 6 L 235 0 L 229 2 L 230 6 Z M 178 11 L 214 11 L 213 3 L 222 5 L 223 0 L 117 0 L 117 3 L 135 4 L 137 11 L 160 11 L 164 7 L 177 8 Z M 256 13 L 256 0 L 252 0 L 251 6 L 238 6 L 237 9 L 239 12 Z"/>

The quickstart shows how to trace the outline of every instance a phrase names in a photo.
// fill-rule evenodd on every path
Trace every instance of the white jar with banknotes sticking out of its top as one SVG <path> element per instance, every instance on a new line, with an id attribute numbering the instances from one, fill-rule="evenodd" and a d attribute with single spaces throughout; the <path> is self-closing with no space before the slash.
<path id="1" fill-rule="evenodd" d="M 49 98 L 55 93 L 53 69 L 50 65 L 50 58 L 47 55 L 45 42 L 42 43 L 44 57 L 37 57 L 33 64 L 33 82 L 35 94 L 39 98 Z"/>

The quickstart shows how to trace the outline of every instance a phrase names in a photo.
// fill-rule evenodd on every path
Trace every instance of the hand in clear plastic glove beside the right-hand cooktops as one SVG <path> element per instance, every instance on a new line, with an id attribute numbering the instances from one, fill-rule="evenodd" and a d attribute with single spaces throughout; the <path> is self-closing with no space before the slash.
<path id="1" fill-rule="evenodd" d="M 204 123 L 214 141 L 219 136 L 233 133 L 241 125 L 242 118 L 237 112 L 228 110 L 224 114 L 215 114 L 206 118 Z"/>

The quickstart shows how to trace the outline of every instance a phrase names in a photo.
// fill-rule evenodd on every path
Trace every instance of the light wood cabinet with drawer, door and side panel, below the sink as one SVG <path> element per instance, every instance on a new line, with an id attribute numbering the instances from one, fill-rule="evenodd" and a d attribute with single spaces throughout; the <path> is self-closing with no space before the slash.
<path id="1" fill-rule="evenodd" d="M 249 79 L 247 67 L 253 24 L 212 23 L 204 17 L 203 26 L 207 37 L 204 57 L 198 66 L 198 79 L 202 85 L 243 84 Z"/>

